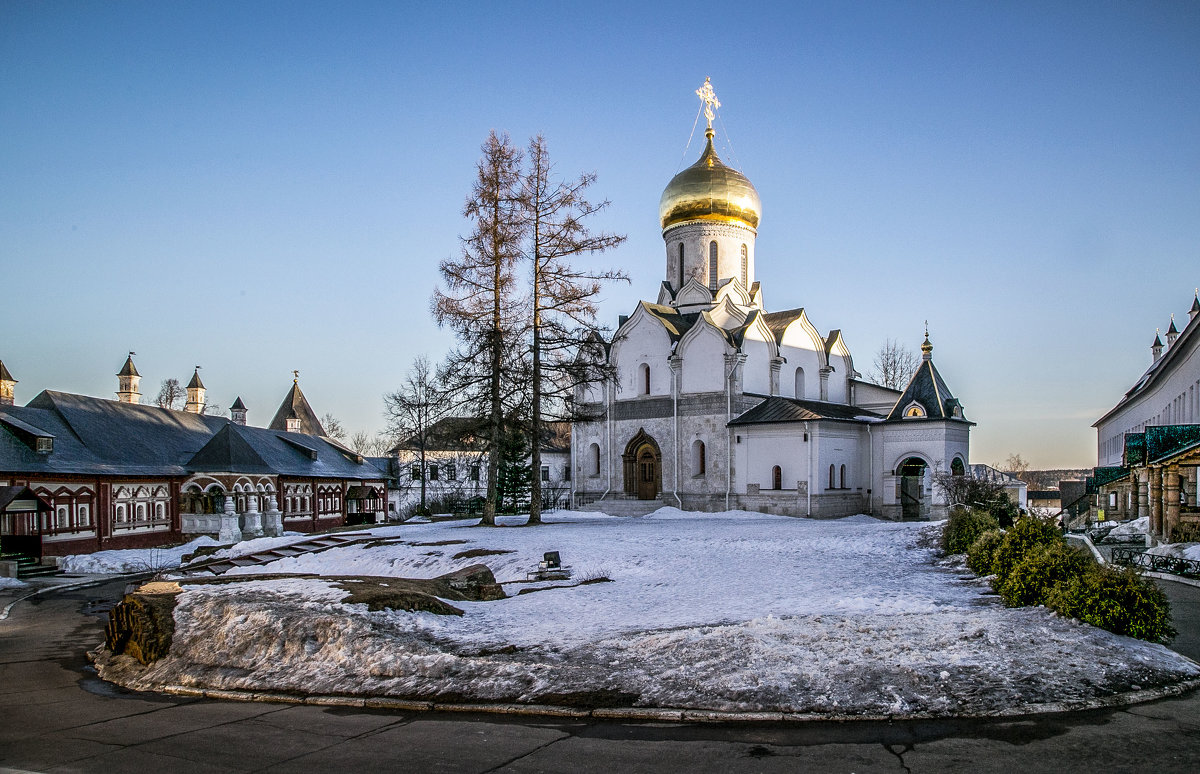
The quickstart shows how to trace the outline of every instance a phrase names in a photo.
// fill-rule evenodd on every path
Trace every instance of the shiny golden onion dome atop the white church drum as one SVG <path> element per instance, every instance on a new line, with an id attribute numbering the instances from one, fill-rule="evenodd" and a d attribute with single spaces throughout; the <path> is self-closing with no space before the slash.
<path id="1" fill-rule="evenodd" d="M 758 228 L 762 204 L 744 174 L 726 167 L 713 150 L 713 131 L 700 161 L 667 184 L 659 199 L 662 229 L 684 221 L 722 221 Z"/>

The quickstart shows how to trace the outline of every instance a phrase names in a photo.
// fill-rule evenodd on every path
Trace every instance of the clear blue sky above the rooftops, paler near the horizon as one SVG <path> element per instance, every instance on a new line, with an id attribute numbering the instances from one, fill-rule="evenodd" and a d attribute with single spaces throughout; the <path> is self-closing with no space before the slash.
<path id="1" fill-rule="evenodd" d="M 976 462 L 1096 462 L 1091 422 L 1200 284 L 1200 4 L 0 4 L 0 360 L 18 401 L 192 366 L 265 424 L 450 343 L 430 319 L 480 143 L 599 174 L 602 262 L 662 278 L 658 199 L 710 76 L 763 202 L 769 308 L 935 360 Z"/>

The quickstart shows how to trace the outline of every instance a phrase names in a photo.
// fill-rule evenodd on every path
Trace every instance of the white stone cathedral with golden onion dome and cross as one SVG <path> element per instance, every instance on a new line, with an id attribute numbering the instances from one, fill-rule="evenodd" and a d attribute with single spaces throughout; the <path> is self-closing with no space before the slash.
<path id="1" fill-rule="evenodd" d="M 666 278 L 658 300 L 622 317 L 606 342 L 612 378 L 576 394 L 589 421 L 571 432 L 577 508 L 662 505 L 793 516 L 944 516 L 932 474 L 968 470 L 973 422 L 932 361 L 902 391 L 860 380 L 841 331 L 803 307 L 768 312 L 755 281 L 761 205 L 707 143 L 659 203 Z"/>

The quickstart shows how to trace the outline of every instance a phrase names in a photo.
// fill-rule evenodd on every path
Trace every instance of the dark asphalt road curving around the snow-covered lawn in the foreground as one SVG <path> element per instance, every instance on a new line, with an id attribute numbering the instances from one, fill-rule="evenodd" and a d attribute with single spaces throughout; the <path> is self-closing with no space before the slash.
<path id="1" fill-rule="evenodd" d="M 1200 660 L 1200 589 L 1164 583 Z M 121 583 L 0 620 L 0 772 L 1187 772 L 1200 694 L 1012 720 L 628 724 L 217 702 L 133 694 L 91 672 Z M 0 601 L 0 606 L 7 600 Z"/>

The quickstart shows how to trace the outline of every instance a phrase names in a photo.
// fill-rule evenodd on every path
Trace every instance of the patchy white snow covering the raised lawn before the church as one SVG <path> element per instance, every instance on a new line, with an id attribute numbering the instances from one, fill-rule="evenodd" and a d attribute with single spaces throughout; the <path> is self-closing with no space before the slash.
<path id="1" fill-rule="evenodd" d="M 520 520 L 518 520 L 520 521 Z M 1169 649 L 1004 608 L 934 564 L 938 526 L 662 509 L 373 529 L 383 542 L 234 572 L 434 577 L 487 564 L 508 599 L 462 617 L 368 612 L 336 581 L 187 586 L 170 655 L 103 666 L 134 688 L 372 694 L 829 714 L 988 713 L 1200 677 Z M 482 557 L 468 550 L 510 551 Z M 575 580 L 517 595 L 546 551 Z"/>

